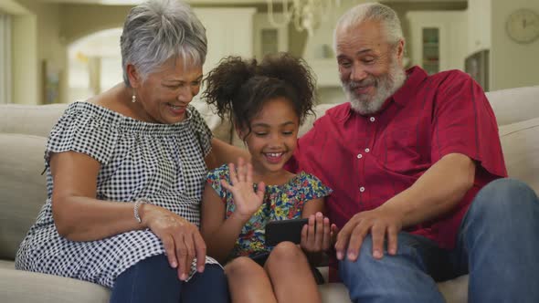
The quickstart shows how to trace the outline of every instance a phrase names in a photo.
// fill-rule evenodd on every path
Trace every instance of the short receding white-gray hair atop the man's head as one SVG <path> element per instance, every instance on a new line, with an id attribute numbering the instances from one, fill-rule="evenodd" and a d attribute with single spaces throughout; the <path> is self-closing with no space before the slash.
<path id="1" fill-rule="evenodd" d="M 398 41 L 404 40 L 400 20 L 393 9 L 379 3 L 365 3 L 355 5 L 337 21 L 337 26 L 333 31 L 333 49 L 337 47 L 338 30 L 358 26 L 365 21 L 380 22 L 386 29 L 387 42 L 391 45 L 396 45 Z"/>

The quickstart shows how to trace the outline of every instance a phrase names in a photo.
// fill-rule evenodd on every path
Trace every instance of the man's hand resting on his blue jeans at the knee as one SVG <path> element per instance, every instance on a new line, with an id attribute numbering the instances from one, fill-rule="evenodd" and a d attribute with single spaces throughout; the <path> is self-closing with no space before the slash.
<path id="1" fill-rule="evenodd" d="M 373 256 L 376 259 L 384 256 L 386 235 L 387 251 L 390 255 L 395 255 L 397 235 L 402 229 L 402 222 L 401 214 L 388 208 L 378 207 L 355 214 L 337 235 L 337 243 L 335 243 L 337 259 L 343 260 L 346 253 L 349 260 L 355 261 L 359 256 L 363 240 L 369 232 L 373 238 Z"/>

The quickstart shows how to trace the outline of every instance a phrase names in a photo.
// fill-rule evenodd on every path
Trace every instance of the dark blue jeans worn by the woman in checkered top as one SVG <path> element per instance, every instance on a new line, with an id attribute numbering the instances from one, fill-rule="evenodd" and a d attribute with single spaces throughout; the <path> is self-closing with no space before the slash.
<path id="1" fill-rule="evenodd" d="M 220 266 L 206 265 L 189 281 L 180 281 L 164 255 L 151 256 L 116 278 L 111 302 L 228 302 L 227 277 Z"/>

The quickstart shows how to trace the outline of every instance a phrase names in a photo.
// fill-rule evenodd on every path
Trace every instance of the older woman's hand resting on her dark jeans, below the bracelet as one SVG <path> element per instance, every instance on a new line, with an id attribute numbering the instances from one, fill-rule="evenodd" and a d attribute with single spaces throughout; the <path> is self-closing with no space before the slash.
<path id="1" fill-rule="evenodd" d="M 143 224 L 148 226 L 163 242 L 170 266 L 178 270 L 178 277 L 185 281 L 196 256 L 196 269 L 204 271 L 206 243 L 196 225 L 173 212 L 153 204 L 143 204 Z"/>

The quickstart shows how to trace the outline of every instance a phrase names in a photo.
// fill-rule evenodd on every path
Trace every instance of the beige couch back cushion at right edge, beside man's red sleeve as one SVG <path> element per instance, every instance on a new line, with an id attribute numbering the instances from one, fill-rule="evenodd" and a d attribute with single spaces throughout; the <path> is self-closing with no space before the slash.
<path id="1" fill-rule="evenodd" d="M 539 193 L 539 118 L 501 126 L 500 141 L 509 176 Z"/>

